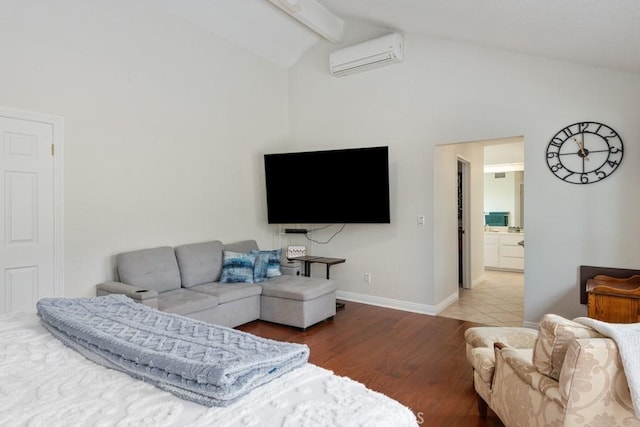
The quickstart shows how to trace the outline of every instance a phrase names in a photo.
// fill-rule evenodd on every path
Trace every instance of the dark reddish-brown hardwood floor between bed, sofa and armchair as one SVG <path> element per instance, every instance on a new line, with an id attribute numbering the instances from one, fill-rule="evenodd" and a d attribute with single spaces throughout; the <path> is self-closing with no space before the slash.
<path id="1" fill-rule="evenodd" d="M 347 302 L 306 331 L 255 321 L 238 329 L 305 343 L 309 361 L 411 408 L 425 426 L 502 426 L 478 415 L 464 331 L 477 323 Z"/>

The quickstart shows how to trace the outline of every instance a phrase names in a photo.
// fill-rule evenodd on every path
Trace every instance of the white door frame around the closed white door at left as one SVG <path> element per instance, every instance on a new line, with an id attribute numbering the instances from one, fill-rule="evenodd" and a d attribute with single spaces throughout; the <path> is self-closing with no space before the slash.
<path id="1" fill-rule="evenodd" d="M 0 117 L 51 125 L 53 136 L 53 291 L 64 296 L 64 118 L 0 106 Z"/>

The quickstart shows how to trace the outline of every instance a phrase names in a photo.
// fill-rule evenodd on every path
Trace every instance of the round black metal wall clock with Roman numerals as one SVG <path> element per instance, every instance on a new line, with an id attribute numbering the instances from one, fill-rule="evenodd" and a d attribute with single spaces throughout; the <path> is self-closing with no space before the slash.
<path id="1" fill-rule="evenodd" d="M 571 184 L 592 184 L 611 175 L 624 148 L 618 132 L 597 122 L 580 122 L 556 133 L 547 146 L 547 165 Z"/>

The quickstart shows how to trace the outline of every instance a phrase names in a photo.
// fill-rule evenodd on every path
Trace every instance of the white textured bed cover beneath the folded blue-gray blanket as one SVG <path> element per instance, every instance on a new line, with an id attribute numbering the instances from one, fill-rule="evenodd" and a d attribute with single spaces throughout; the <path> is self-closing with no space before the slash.
<path id="1" fill-rule="evenodd" d="M 181 400 L 65 347 L 32 313 L 0 316 L 0 426 L 415 426 L 411 410 L 307 364 L 239 402 Z"/>

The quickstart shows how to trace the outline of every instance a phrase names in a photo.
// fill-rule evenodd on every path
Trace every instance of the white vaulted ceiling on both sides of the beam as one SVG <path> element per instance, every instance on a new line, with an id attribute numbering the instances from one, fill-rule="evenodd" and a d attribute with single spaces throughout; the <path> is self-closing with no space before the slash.
<path id="1" fill-rule="evenodd" d="M 268 0 L 147 0 L 284 67 L 320 38 Z M 640 73 L 639 0 L 318 0 L 349 22 Z"/>

